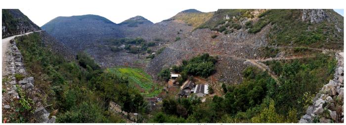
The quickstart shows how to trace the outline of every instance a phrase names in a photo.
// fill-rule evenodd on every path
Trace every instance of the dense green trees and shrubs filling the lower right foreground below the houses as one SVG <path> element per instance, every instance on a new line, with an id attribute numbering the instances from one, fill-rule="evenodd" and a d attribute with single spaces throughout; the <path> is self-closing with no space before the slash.
<path id="1" fill-rule="evenodd" d="M 312 104 L 314 94 L 332 78 L 336 60 L 320 55 L 267 64 L 279 76 L 280 84 L 267 72 L 248 67 L 242 72 L 241 84 L 222 84 L 224 97 L 214 96 L 203 103 L 196 103 L 195 96 L 166 99 L 162 113 L 155 114 L 152 120 L 157 123 L 296 123 Z"/>

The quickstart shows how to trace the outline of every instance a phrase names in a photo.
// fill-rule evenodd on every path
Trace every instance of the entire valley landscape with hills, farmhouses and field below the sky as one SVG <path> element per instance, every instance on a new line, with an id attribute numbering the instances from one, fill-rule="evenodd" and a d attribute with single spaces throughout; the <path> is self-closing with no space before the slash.
<path id="1" fill-rule="evenodd" d="M 22 55 L 15 72 L 2 62 L 9 123 L 47 123 L 57 111 L 56 123 L 344 122 L 344 18 L 332 9 L 188 9 L 119 24 L 88 14 L 39 29 L 2 12 L 6 28 L 30 24 L 3 30 L 2 58 Z M 35 87 L 10 100 L 4 90 L 31 77 Z M 40 107 L 49 117 L 37 118 Z"/>

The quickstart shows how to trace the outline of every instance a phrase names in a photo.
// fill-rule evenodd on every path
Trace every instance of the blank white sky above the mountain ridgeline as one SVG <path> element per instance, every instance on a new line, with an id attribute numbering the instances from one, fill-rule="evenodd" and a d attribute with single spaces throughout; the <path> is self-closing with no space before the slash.
<path id="1" fill-rule="evenodd" d="M 312 5 L 309 0 L 246 0 L 246 2 L 242 0 L 2 0 L 1 8 L 20 9 L 40 27 L 58 16 L 85 14 L 103 16 L 118 24 L 137 15 L 157 23 L 191 8 L 202 12 L 216 11 L 219 8 L 345 8 L 341 5 L 344 2 L 342 0 L 340 2 L 312 1 L 316 5 Z M 297 2 L 301 4 L 295 4 Z M 344 9 L 336 11 L 344 15 Z"/>

